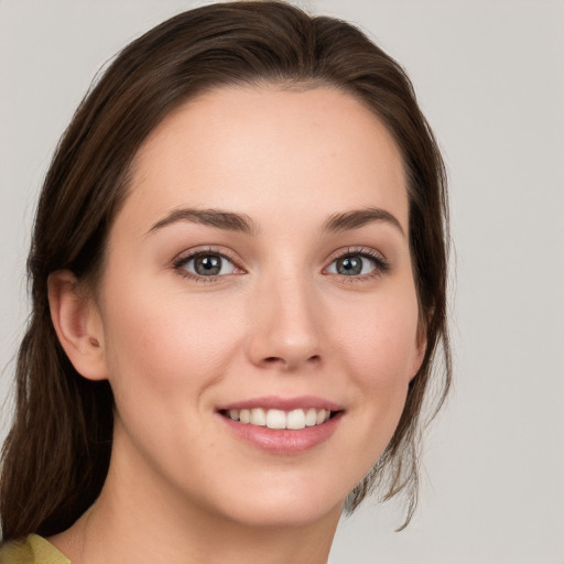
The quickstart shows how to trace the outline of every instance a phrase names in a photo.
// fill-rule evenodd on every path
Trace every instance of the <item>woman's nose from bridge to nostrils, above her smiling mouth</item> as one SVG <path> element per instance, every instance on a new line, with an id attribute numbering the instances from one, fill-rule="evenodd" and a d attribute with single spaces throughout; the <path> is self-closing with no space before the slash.
<path id="1" fill-rule="evenodd" d="M 285 372 L 322 361 L 321 311 L 314 289 L 295 278 L 263 281 L 249 304 L 248 355 Z"/>

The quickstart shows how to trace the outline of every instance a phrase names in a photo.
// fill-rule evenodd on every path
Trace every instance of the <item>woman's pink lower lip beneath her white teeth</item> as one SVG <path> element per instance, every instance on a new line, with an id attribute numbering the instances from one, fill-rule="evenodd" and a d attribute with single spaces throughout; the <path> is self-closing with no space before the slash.
<path id="1" fill-rule="evenodd" d="M 337 429 L 343 413 L 339 412 L 321 425 L 291 429 L 269 429 L 250 423 L 241 423 L 218 414 L 239 438 L 252 446 L 272 454 L 300 454 L 325 443 Z"/>

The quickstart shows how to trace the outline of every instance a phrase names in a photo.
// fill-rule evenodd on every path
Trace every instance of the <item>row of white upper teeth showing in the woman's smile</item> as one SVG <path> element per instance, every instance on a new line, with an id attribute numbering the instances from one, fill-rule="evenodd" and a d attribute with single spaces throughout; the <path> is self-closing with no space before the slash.
<path id="1" fill-rule="evenodd" d="M 282 410 L 253 408 L 251 410 L 229 410 L 227 415 L 234 421 L 262 427 L 300 430 L 325 423 L 330 417 L 330 411 L 310 408 L 306 411 L 292 410 L 286 413 Z"/>

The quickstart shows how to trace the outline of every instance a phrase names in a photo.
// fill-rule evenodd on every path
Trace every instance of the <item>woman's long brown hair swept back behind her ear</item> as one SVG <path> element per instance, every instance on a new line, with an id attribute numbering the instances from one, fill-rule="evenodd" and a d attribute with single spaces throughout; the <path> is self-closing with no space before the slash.
<path id="1" fill-rule="evenodd" d="M 355 509 L 379 486 L 384 499 L 406 494 L 411 518 L 420 412 L 437 349 L 444 375 L 436 409 L 451 382 L 441 154 L 403 69 L 356 28 L 308 17 L 283 2 L 234 2 L 181 13 L 128 45 L 85 97 L 57 147 L 28 261 L 33 310 L 18 357 L 15 419 L 2 452 L 4 541 L 67 529 L 99 495 L 110 458 L 111 389 L 107 381 L 82 378 L 58 344 L 48 274 L 69 269 L 96 286 L 108 229 L 127 195 L 131 161 L 166 115 L 212 88 L 264 82 L 325 84 L 349 93 L 383 120 L 401 150 L 427 348 L 390 444 L 347 508 Z"/>

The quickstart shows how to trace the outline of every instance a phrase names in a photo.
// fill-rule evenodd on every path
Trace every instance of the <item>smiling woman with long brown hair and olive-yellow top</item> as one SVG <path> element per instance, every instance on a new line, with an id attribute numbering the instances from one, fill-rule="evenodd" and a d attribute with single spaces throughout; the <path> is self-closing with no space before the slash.
<path id="1" fill-rule="evenodd" d="M 358 30 L 242 2 L 135 40 L 61 141 L 29 269 L 6 562 L 323 563 L 376 487 L 409 521 L 446 193 Z"/>

